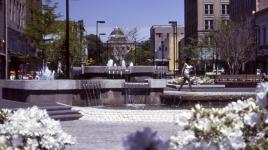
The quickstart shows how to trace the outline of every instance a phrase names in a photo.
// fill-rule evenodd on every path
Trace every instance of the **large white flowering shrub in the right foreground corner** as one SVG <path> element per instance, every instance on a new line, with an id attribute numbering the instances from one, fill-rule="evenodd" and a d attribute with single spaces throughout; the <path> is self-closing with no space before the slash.
<path id="1" fill-rule="evenodd" d="M 256 100 L 238 100 L 224 108 L 196 105 L 178 119 L 183 128 L 171 137 L 172 149 L 268 149 L 267 91 L 268 84 L 261 83 Z"/>

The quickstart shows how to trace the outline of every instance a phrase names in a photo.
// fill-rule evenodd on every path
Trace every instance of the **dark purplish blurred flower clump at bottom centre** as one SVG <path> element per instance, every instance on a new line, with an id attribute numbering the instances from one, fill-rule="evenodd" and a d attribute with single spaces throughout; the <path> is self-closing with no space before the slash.
<path id="1" fill-rule="evenodd" d="M 150 128 L 128 135 L 124 141 L 126 150 L 168 150 L 169 141 L 163 142 Z"/>

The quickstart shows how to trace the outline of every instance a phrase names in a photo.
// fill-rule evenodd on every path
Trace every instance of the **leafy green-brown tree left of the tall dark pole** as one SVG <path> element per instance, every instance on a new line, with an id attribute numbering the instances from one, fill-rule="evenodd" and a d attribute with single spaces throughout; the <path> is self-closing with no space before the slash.
<path id="1" fill-rule="evenodd" d="M 33 0 L 26 7 L 31 12 L 28 17 L 24 34 L 28 37 L 28 44 L 33 51 L 41 50 L 42 59 L 47 60 L 47 49 L 51 47 L 51 43 L 45 41 L 48 35 L 56 35 L 58 33 L 57 19 L 61 16 L 56 13 L 58 3 L 52 0 L 45 0 L 42 4 L 38 0 Z"/>

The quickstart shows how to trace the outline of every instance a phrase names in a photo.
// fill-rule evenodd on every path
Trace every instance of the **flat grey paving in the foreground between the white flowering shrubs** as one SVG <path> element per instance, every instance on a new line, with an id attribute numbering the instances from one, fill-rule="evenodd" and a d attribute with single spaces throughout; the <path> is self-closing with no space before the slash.
<path id="1" fill-rule="evenodd" d="M 67 150 L 124 150 L 123 141 L 130 133 L 150 127 L 164 141 L 177 133 L 174 123 L 93 122 L 77 120 L 61 122 L 63 129 L 76 137 L 77 144 Z"/>

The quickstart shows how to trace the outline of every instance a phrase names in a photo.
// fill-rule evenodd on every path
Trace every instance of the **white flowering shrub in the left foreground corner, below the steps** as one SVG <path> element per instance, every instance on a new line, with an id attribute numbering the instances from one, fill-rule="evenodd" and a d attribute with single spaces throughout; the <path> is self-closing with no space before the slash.
<path id="1" fill-rule="evenodd" d="M 0 111 L 0 149 L 58 150 L 74 144 L 59 121 L 37 107 Z"/>

